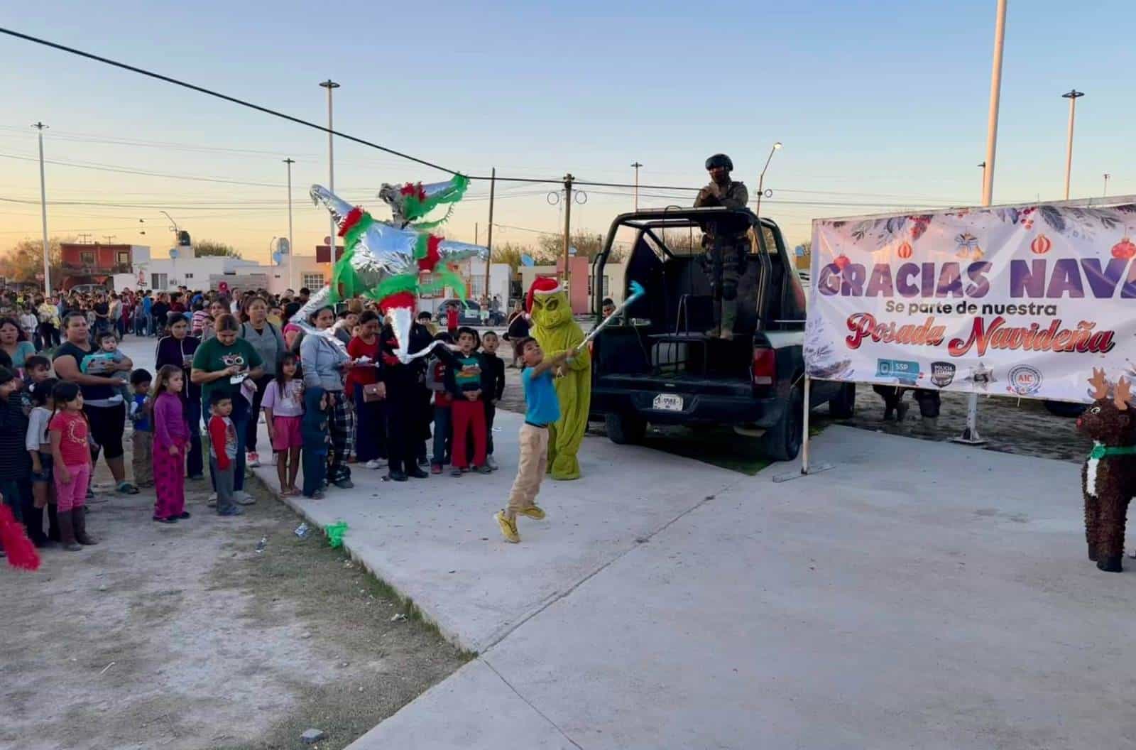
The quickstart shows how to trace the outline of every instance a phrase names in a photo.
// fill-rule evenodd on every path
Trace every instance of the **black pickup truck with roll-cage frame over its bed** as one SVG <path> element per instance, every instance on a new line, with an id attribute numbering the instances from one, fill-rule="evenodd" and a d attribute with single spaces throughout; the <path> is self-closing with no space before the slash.
<path id="1" fill-rule="evenodd" d="M 701 235 L 710 223 L 732 235 L 745 233 L 750 244 L 733 340 L 707 335 L 715 303 Z M 592 413 L 603 415 L 608 438 L 637 443 L 649 423 L 730 426 L 759 438 L 769 458 L 795 458 L 803 425 L 805 297 L 780 230 L 737 208 L 623 214 L 592 264 L 598 319 L 604 266 L 617 233 L 627 228 L 634 242 L 625 290 L 634 281 L 646 293 L 593 344 Z M 810 391 L 811 407 L 827 402 L 834 416 L 852 415 L 853 384 L 817 381 Z"/>

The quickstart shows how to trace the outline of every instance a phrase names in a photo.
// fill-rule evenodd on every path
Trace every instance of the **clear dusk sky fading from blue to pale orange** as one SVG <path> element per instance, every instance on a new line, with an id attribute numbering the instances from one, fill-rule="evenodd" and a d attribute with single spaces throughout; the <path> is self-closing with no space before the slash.
<path id="1" fill-rule="evenodd" d="M 182 78 L 474 175 L 698 188 L 733 157 L 791 244 L 810 220 L 976 205 L 994 0 L 957 2 L 7 3 L 0 26 Z M 1010 0 L 995 202 L 1062 198 L 1070 88 L 1078 100 L 1072 198 L 1136 193 L 1130 1 Z M 0 251 L 40 235 L 35 132 L 44 132 L 49 233 L 168 248 L 167 210 L 194 239 L 266 261 L 327 234 L 308 200 L 326 184 L 327 136 L 73 55 L 0 35 Z M 148 174 L 139 174 L 148 173 Z M 383 182 L 444 173 L 335 143 L 336 192 L 386 216 Z M 498 183 L 494 245 L 559 231 L 554 185 Z M 629 189 L 587 189 L 573 226 L 602 233 Z M 484 242 L 488 184 L 446 226 Z M 693 193 L 641 191 L 642 206 Z M 142 219 L 142 222 L 140 222 Z M 139 227 L 145 227 L 145 236 Z"/>

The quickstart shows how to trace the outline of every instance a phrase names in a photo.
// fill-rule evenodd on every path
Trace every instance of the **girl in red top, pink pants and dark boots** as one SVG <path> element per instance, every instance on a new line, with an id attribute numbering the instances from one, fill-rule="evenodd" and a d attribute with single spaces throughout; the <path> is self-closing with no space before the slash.
<path id="1" fill-rule="evenodd" d="M 86 533 L 86 488 L 91 478 L 90 430 L 83 414 L 78 385 L 62 382 L 52 391 L 55 410 L 48 430 L 51 434 L 51 463 L 56 478 L 59 541 L 65 550 L 76 552 L 81 544 L 97 542 Z"/>

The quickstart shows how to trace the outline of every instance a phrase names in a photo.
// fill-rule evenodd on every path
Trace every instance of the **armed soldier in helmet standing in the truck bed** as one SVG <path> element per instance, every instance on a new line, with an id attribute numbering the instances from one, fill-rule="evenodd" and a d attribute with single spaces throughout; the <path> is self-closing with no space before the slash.
<path id="1" fill-rule="evenodd" d="M 745 208 L 750 201 L 750 191 L 744 184 L 729 178 L 733 169 L 734 163 L 725 153 L 716 153 L 707 159 L 710 184 L 699 191 L 694 207 Z M 707 222 L 702 235 L 702 247 L 705 248 L 703 266 L 711 274 L 715 306 L 721 303 L 720 312 L 716 315 L 718 325 L 707 332 L 707 335 L 721 336 L 727 341 L 734 338 L 734 323 L 737 319 L 737 280 L 745 270 L 745 253 L 749 247 L 746 227 L 742 224 L 735 227 L 733 224 Z"/>

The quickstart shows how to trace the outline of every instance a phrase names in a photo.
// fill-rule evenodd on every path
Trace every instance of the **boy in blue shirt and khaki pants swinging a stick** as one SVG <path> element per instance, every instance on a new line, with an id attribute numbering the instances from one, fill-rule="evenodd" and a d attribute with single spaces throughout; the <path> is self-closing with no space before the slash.
<path id="1" fill-rule="evenodd" d="M 525 368 L 520 370 L 520 384 L 525 389 L 525 424 L 520 425 L 520 460 L 517 478 L 509 492 L 509 506 L 493 515 L 507 542 L 519 542 L 517 514 L 544 518 L 544 511 L 536 505 L 536 493 L 541 491 L 541 480 L 549 464 L 549 425 L 560 418 L 560 401 L 552 384 L 552 372 L 576 353 L 575 349 L 544 358 L 536 339 L 525 338 L 517 342 Z"/>

